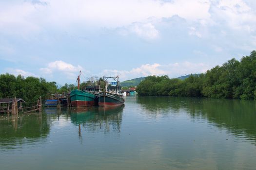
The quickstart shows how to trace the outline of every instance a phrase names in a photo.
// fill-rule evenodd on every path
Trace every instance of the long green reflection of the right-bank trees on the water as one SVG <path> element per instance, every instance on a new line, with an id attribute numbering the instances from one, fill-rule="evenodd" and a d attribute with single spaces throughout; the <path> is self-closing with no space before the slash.
<path id="1" fill-rule="evenodd" d="M 256 144 L 256 101 L 178 97 L 138 97 L 137 102 L 150 115 L 189 114 L 193 121 L 207 120 L 238 138 Z"/>

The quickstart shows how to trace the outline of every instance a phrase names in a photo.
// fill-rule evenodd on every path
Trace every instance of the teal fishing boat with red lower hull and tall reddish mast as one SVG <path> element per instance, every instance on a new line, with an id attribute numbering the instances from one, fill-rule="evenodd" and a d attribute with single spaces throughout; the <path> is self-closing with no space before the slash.
<path id="1" fill-rule="evenodd" d="M 80 75 L 81 71 L 77 79 L 78 89 L 72 90 L 70 92 L 71 105 L 73 107 L 93 106 L 95 105 L 96 96 L 92 93 L 80 89 Z"/>

